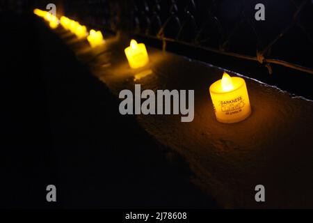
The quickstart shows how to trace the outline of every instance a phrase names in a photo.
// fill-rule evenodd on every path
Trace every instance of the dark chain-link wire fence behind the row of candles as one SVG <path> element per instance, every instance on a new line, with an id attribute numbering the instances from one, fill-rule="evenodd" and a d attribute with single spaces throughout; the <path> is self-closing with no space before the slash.
<path id="1" fill-rule="evenodd" d="M 74 16 L 113 31 L 123 29 L 166 42 L 200 47 L 313 74 L 313 3 L 310 0 L 75 0 Z M 86 4 L 88 3 L 88 7 Z M 255 20 L 255 5 L 265 20 Z"/>

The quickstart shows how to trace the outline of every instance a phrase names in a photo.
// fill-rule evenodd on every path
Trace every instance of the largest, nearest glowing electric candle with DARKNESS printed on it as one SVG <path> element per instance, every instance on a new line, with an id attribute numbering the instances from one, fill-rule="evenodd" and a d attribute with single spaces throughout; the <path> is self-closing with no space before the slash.
<path id="1" fill-rule="evenodd" d="M 236 123 L 251 114 L 246 82 L 241 77 L 230 77 L 224 72 L 222 79 L 210 86 L 211 100 L 217 121 Z"/>

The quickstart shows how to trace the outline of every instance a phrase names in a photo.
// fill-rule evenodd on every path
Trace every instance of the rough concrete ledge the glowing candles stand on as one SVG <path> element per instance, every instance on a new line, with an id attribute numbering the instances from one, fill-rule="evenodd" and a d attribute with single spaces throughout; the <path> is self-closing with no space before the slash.
<path id="1" fill-rule="evenodd" d="M 193 183 L 215 197 L 220 206 L 313 207 L 312 101 L 244 77 L 251 116 L 241 123 L 218 123 L 209 85 L 222 76 L 220 68 L 148 47 L 150 65 L 135 72 L 123 51 L 129 40 L 107 38 L 102 48 L 90 49 L 86 40 L 65 36 L 60 34 L 77 58 L 117 96 L 122 89 L 134 91 L 134 84 L 141 84 L 142 90 L 195 90 L 191 123 L 182 123 L 180 115 L 136 118 L 159 144 L 184 157 L 193 171 Z M 147 70 L 152 73 L 134 80 Z M 258 184 L 266 188 L 265 203 L 255 201 Z"/>

